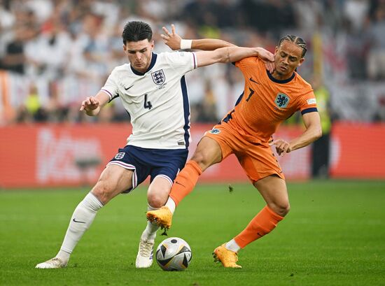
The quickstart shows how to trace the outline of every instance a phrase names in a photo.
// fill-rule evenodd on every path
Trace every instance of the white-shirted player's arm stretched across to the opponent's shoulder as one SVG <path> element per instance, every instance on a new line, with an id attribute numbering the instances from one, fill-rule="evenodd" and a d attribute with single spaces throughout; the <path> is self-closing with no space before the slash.
<path id="1" fill-rule="evenodd" d="M 226 47 L 212 51 L 196 52 L 197 66 L 209 66 L 217 62 L 237 62 L 246 57 L 259 57 L 267 62 L 274 62 L 274 55 L 263 48 Z"/>

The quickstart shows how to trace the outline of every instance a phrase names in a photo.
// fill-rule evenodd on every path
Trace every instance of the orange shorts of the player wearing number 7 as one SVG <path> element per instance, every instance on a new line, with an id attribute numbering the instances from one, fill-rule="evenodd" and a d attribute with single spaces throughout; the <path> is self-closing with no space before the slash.
<path id="1" fill-rule="evenodd" d="M 230 154 L 235 154 L 252 183 L 274 174 L 285 180 L 269 143 L 251 143 L 237 129 L 225 122 L 214 126 L 204 136 L 213 138 L 221 146 L 222 160 Z"/>

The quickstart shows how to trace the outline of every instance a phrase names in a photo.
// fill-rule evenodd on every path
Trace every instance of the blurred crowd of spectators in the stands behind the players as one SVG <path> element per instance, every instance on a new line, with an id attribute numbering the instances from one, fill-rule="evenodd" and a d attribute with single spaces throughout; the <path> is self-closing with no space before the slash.
<path id="1" fill-rule="evenodd" d="M 115 66 L 127 62 L 121 33 L 130 20 L 183 38 L 222 38 L 274 51 L 281 36 L 307 41 L 298 72 L 332 120 L 385 121 L 385 0 L 0 0 L 0 125 L 129 120 L 118 100 L 99 117 L 78 112 Z M 188 73 L 193 122 L 218 122 L 244 87 L 216 64 Z M 298 122 L 298 117 L 289 120 Z"/>

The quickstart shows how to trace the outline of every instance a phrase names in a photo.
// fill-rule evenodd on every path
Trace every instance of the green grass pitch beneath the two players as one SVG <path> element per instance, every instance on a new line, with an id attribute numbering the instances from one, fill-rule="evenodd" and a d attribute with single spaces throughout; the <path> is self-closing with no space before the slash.
<path id="1" fill-rule="evenodd" d="M 135 269 L 145 187 L 99 211 L 66 269 L 34 266 L 57 253 L 87 188 L 0 192 L 0 285 L 385 285 L 385 181 L 290 183 L 286 219 L 239 252 L 243 269 L 223 269 L 211 252 L 264 206 L 251 185 L 233 187 L 200 184 L 176 210 L 169 236 L 193 250 L 181 272 Z"/>

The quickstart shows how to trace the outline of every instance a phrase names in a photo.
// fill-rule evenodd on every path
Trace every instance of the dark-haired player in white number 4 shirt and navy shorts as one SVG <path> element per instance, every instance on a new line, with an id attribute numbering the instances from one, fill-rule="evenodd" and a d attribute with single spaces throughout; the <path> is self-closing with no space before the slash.
<path id="1" fill-rule="evenodd" d="M 183 169 L 190 142 L 190 106 L 184 75 L 216 62 L 237 62 L 260 57 L 272 62 L 272 53 L 262 48 L 230 46 L 214 51 L 153 53 L 151 27 L 132 21 L 123 30 L 123 50 L 129 64 L 113 69 L 96 96 L 87 97 L 80 110 L 95 116 L 109 101 L 120 97 L 130 113 L 132 134 L 107 164 L 96 185 L 73 212 L 62 247 L 55 257 L 36 265 L 39 269 L 65 267 L 73 248 L 90 227 L 97 211 L 120 193 L 130 192 L 148 176 L 148 210 L 164 206 L 172 183 Z M 158 225 L 147 222 L 141 235 L 136 267 L 153 263 L 153 245 Z"/>

